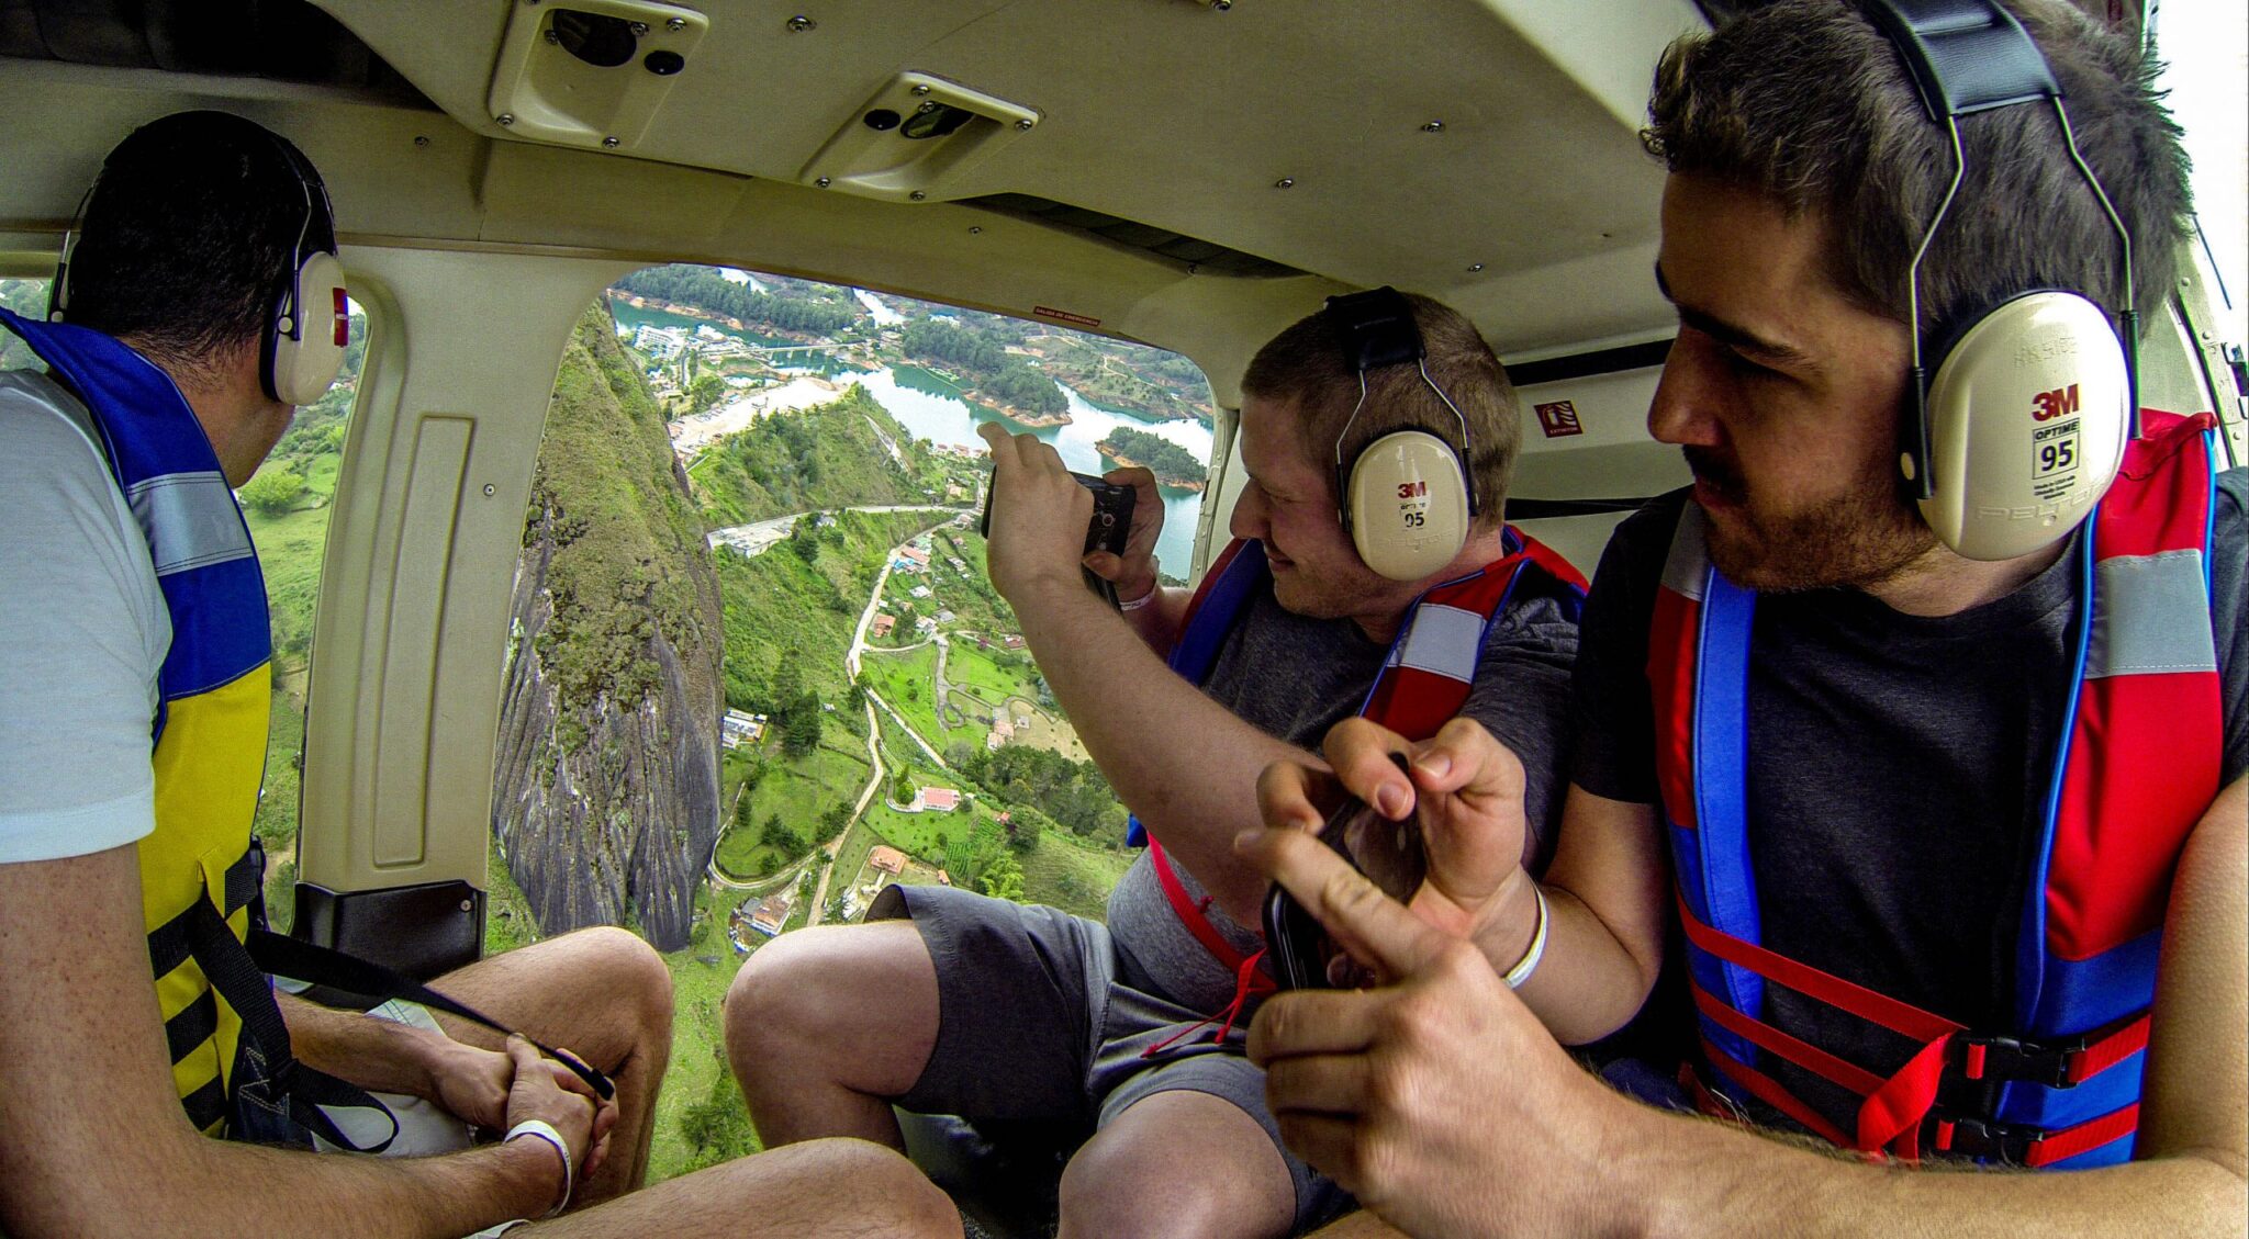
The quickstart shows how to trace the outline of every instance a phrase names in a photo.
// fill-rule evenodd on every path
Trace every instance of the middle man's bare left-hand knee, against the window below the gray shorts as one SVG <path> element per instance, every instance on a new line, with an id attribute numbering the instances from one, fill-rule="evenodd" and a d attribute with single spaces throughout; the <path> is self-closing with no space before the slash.
<path id="1" fill-rule="evenodd" d="M 938 967 L 911 920 L 774 938 L 726 989 L 726 1061 L 765 1147 L 857 1136 L 904 1149 L 891 1102 L 938 1043 Z"/>

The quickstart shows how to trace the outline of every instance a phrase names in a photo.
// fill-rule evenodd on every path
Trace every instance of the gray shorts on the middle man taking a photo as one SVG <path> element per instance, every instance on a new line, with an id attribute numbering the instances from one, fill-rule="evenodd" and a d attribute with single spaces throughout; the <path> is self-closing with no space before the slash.
<path id="1" fill-rule="evenodd" d="M 888 886 L 866 917 L 913 920 L 938 965 L 938 1043 L 922 1077 L 895 1097 L 902 1109 L 1095 1131 L 1142 1097 L 1208 1093 L 1273 1140 L 1295 1185 L 1298 1232 L 1352 1208 L 1343 1187 L 1282 1145 L 1264 1070 L 1244 1057 L 1248 1021 L 1217 1043 L 1219 1025 L 1203 1023 L 1210 1012 L 1124 983 L 1109 926 L 949 886 Z"/>

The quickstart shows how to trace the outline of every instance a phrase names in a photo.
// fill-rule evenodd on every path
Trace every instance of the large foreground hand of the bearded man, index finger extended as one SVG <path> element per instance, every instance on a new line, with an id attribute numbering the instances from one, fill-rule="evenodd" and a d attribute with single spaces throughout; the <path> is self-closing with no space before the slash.
<path id="1" fill-rule="evenodd" d="M 1379 753 L 1376 765 L 1397 776 Z M 1604 1183 L 1640 1115 L 1570 1061 L 1482 951 L 1415 915 L 1428 890 L 1406 911 L 1300 830 L 1300 796 L 1275 771 L 1259 787 L 1273 830 L 1246 832 L 1237 850 L 1381 985 L 1259 1007 L 1248 1052 L 1282 1138 L 1410 1235 L 1604 1232 L 1631 1201 L 1554 1185 Z M 1361 792 L 1381 803 L 1383 789 Z M 1433 888 L 1437 872 L 1433 850 Z"/>

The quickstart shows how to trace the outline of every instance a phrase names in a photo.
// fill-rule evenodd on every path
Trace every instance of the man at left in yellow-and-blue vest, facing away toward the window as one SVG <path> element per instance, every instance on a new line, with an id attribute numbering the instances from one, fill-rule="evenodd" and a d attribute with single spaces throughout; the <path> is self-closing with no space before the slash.
<path id="1" fill-rule="evenodd" d="M 256 124 L 164 117 L 110 153 L 65 259 L 58 322 L 0 313 L 49 367 L 0 373 L 0 1230 L 450 1237 L 573 1208 L 533 1230 L 958 1235 L 873 1145 L 623 1196 L 672 1014 L 627 931 L 434 983 L 612 1097 L 522 1037 L 274 992 L 245 949 L 270 636 L 229 488 L 342 358 L 326 191 Z"/>

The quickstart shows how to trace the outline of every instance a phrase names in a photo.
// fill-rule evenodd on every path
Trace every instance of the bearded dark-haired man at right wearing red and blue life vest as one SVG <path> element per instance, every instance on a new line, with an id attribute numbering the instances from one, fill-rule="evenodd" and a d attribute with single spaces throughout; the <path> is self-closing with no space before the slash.
<path id="1" fill-rule="evenodd" d="M 2008 63 L 2008 13 L 1963 7 L 1977 63 Z M 2240 1232 L 2249 477 L 2215 472 L 2209 414 L 2141 412 L 2123 443 L 2119 382 L 2105 409 L 2076 387 L 1972 405 L 2085 445 L 2110 418 L 2123 465 L 2074 533 L 1968 558 L 1905 486 L 1932 459 L 1916 331 L 1939 355 L 2058 286 L 2130 333 L 2182 236 L 2184 160 L 2139 54 L 2062 4 L 2008 9 L 2069 119 L 2047 99 L 1963 115 L 1948 214 L 1952 139 L 1891 13 L 1788 0 L 1664 56 L 1646 144 L 1671 169 L 1658 281 L 1680 333 L 1649 429 L 1696 486 L 1601 560 L 1543 881 L 1455 875 L 1455 935 L 1300 830 L 1244 841 L 1390 980 L 1268 1003 L 1250 1052 L 1291 1145 L 1399 1230 Z M 1981 355 L 2004 382 L 2083 349 L 2092 391 L 2114 349 L 2094 331 Z M 1970 416 L 1952 391 L 1936 369 L 1932 418 Z M 1309 825 L 1338 787 L 1471 816 L 1507 789 L 1478 735 L 1338 735 L 1329 760 L 1266 771 L 1268 825 Z M 1792 1136 L 1635 1106 L 1559 1050 L 1633 1019 L 1667 960 L 1691 998 L 1646 1016 L 1667 1061 L 1610 1077 Z M 1898 1174 L 1813 1138 L 2085 1174 Z"/>

